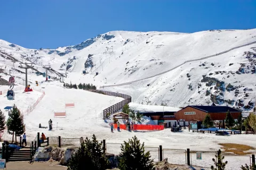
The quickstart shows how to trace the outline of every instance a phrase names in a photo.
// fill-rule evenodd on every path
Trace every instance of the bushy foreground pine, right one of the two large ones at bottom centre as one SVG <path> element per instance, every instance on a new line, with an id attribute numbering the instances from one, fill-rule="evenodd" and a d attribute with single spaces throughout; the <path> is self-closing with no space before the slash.
<path id="1" fill-rule="evenodd" d="M 141 145 L 136 136 L 129 139 L 128 142 L 124 141 L 119 157 L 119 169 L 121 170 L 155 169 L 149 151 L 145 153 L 144 143 Z"/>

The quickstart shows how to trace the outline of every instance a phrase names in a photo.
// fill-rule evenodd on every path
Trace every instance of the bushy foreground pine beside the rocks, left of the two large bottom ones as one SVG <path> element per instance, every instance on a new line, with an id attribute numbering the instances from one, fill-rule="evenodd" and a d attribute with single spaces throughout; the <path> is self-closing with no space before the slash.
<path id="1" fill-rule="evenodd" d="M 72 156 L 68 163 L 68 170 L 80 169 L 105 170 L 109 167 L 109 161 L 103 152 L 102 142 L 98 142 L 93 134 L 92 140 L 86 137 L 84 143 Z"/>

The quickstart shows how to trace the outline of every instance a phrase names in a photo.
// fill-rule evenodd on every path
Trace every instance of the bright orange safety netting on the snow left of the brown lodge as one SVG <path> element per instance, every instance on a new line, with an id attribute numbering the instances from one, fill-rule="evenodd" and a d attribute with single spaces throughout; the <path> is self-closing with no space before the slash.
<path id="1" fill-rule="evenodd" d="M 113 123 L 113 126 L 114 126 L 114 129 L 117 129 L 117 124 Z M 131 129 L 132 128 L 133 128 L 134 131 L 136 131 L 136 130 L 147 130 L 147 131 L 161 131 L 161 130 L 164 130 L 163 125 L 134 124 L 134 125 L 131 125 Z M 125 124 L 120 124 L 120 129 L 126 130 L 126 125 Z"/>

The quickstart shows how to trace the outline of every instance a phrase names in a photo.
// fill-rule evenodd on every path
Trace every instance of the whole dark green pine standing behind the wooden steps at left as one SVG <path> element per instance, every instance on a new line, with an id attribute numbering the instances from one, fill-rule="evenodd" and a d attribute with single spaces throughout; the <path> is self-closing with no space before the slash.
<path id="1" fill-rule="evenodd" d="M 14 141 L 14 133 L 15 133 L 15 142 L 17 142 L 17 136 L 23 134 L 25 132 L 25 124 L 23 122 L 23 115 L 20 113 L 20 110 L 13 105 L 10 116 L 7 119 L 7 132 L 12 134 L 12 142 Z"/>

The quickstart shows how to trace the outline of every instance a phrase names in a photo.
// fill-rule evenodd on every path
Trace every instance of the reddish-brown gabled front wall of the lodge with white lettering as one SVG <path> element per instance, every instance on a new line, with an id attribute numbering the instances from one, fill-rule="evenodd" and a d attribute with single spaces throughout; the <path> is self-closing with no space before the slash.
<path id="1" fill-rule="evenodd" d="M 196 112 L 196 114 L 185 115 L 184 112 Z M 198 109 L 195 109 L 193 107 L 187 107 L 185 109 L 181 109 L 180 111 L 174 113 L 174 115 L 176 120 L 183 119 L 185 121 L 193 121 L 193 119 L 195 119 L 195 120 L 203 121 L 206 113 Z"/>

